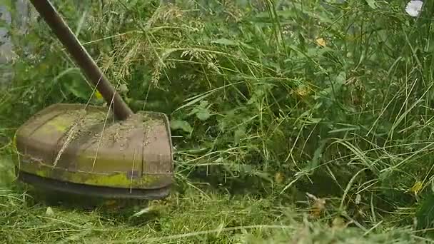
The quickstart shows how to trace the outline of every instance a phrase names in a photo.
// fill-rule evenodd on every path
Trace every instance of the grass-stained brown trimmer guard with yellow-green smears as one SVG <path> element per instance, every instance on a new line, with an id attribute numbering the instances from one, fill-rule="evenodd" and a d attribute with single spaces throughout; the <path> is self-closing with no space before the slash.
<path id="1" fill-rule="evenodd" d="M 164 113 L 115 121 L 107 108 L 55 104 L 16 133 L 16 173 L 37 188 L 102 198 L 161 199 L 173 181 Z M 86 111 L 86 112 L 85 112 Z"/>

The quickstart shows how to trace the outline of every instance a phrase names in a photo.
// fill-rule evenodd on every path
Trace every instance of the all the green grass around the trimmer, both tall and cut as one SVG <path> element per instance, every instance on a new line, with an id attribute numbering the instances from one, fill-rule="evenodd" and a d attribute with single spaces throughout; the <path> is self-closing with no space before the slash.
<path id="1" fill-rule="evenodd" d="M 16 184 L 21 123 L 104 104 L 36 22 L 0 96 L 0 240 L 433 243 L 433 3 L 54 3 L 133 111 L 168 114 L 178 185 L 119 211 Z"/>

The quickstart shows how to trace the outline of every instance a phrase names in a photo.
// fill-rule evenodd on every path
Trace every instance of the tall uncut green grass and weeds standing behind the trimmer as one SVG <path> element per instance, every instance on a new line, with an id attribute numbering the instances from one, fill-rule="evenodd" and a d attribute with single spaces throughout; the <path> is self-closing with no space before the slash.
<path id="1" fill-rule="evenodd" d="M 417 19 L 398 1 L 191 3 L 58 3 L 133 110 L 168 113 L 181 185 L 298 208 L 310 193 L 325 220 L 430 234 L 432 3 Z M 0 102 L 9 135 L 91 94 L 44 23 L 26 38 Z"/>

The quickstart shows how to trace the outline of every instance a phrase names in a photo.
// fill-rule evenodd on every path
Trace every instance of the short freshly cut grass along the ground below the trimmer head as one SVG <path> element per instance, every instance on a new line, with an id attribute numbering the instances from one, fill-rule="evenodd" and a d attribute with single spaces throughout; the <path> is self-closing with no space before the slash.
<path id="1" fill-rule="evenodd" d="M 425 242 L 408 228 L 364 229 L 344 218 L 312 219 L 272 198 L 185 189 L 144 209 L 83 210 L 1 188 L 0 237 L 4 243 Z"/>

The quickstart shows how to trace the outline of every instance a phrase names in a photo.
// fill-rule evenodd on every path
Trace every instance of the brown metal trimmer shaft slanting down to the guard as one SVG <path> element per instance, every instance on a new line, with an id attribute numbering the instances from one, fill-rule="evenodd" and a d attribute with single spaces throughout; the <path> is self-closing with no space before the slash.
<path id="1" fill-rule="evenodd" d="M 104 73 L 96 65 L 94 59 L 88 54 L 79 39 L 69 29 L 69 26 L 61 18 L 59 13 L 49 0 L 30 0 L 39 14 L 44 18 L 57 38 L 64 44 L 66 50 L 74 58 L 77 65 L 96 86 L 99 93 L 107 103 L 111 104 L 113 99 L 113 113 L 116 118 L 124 120 L 133 114 L 133 111 L 126 105 L 121 96 L 114 91 L 113 86 L 107 80 Z"/>

